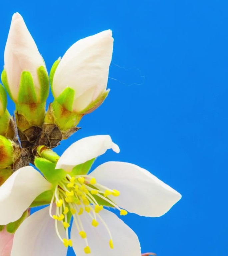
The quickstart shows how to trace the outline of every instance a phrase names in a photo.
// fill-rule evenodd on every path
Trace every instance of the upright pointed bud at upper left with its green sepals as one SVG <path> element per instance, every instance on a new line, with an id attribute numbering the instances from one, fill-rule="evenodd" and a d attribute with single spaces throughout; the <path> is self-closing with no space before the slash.
<path id="1" fill-rule="evenodd" d="M 19 13 L 14 13 L 4 53 L 2 82 L 15 103 L 45 102 L 49 91 L 44 60 Z"/>

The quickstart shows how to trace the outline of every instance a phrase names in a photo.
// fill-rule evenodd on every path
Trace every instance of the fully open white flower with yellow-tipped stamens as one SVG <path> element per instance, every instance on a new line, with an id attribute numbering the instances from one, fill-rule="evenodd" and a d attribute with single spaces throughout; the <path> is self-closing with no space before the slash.
<path id="1" fill-rule="evenodd" d="M 181 195 L 130 163 L 106 162 L 89 175 L 83 174 L 92 159 L 110 148 L 119 152 L 110 136 L 100 135 L 81 139 L 63 153 L 56 169 L 49 170 L 56 177 L 65 173 L 53 182 L 50 207 L 35 212 L 21 224 L 11 256 L 63 256 L 68 246 L 73 246 L 77 256 L 141 255 L 136 234 L 104 206 L 115 207 L 120 215 L 129 211 L 158 217 Z M 16 171 L 0 187 L 0 225 L 18 219 L 34 198 L 50 186 L 30 166 Z M 69 213 L 73 215 L 70 235 Z"/>

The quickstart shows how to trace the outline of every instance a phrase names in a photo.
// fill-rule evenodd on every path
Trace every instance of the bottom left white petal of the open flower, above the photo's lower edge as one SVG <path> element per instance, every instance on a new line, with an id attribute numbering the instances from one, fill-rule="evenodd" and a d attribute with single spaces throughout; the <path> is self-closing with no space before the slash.
<path id="1" fill-rule="evenodd" d="M 59 230 L 65 233 L 63 225 L 59 225 Z M 66 252 L 67 248 L 55 232 L 49 207 L 45 207 L 20 225 L 14 236 L 11 256 L 65 256 Z"/>

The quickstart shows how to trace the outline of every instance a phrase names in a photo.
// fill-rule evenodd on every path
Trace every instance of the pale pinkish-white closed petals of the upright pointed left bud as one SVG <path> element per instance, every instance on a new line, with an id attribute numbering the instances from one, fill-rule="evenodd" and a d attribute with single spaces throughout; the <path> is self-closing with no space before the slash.
<path id="1" fill-rule="evenodd" d="M 38 77 L 38 68 L 45 66 L 36 43 L 29 33 L 25 22 L 19 13 L 14 13 L 10 25 L 9 35 L 4 53 L 4 70 L 7 74 L 9 93 L 12 99 L 18 101 L 21 75 L 29 71 L 32 75 L 37 102 L 41 97 L 41 85 Z"/>

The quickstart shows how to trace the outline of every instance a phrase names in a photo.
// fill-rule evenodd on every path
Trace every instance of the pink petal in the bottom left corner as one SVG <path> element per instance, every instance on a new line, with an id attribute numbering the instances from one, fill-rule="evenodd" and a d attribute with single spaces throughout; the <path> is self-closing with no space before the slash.
<path id="1" fill-rule="evenodd" d="M 3 229 L 0 232 L 0 255 L 10 256 L 12 245 L 13 245 L 14 234 L 11 234 Z"/>

